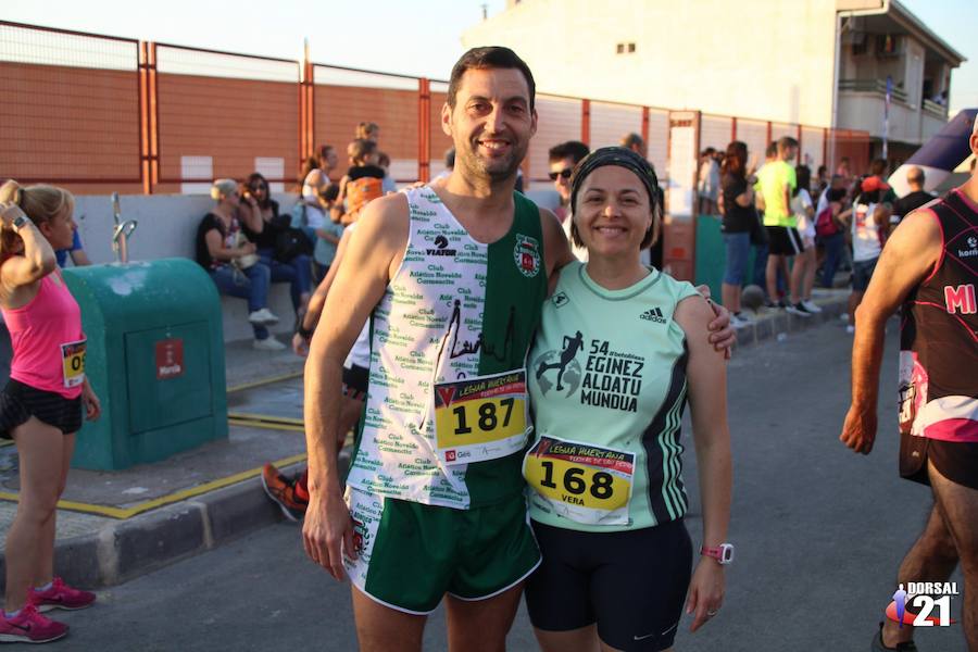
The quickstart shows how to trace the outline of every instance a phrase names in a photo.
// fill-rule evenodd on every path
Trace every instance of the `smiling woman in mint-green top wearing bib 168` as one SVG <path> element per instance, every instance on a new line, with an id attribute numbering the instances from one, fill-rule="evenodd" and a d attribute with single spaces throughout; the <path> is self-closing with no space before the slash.
<path id="1" fill-rule="evenodd" d="M 709 303 L 640 263 L 661 228 L 656 186 L 624 148 L 577 165 L 572 238 L 589 260 L 561 269 L 527 363 L 535 438 L 524 476 L 543 561 L 526 595 L 544 651 L 599 641 L 665 650 L 684 603 L 695 630 L 723 602 L 732 559 L 726 367 L 707 342 Z M 687 392 L 703 513 L 692 574 L 679 439 Z"/>

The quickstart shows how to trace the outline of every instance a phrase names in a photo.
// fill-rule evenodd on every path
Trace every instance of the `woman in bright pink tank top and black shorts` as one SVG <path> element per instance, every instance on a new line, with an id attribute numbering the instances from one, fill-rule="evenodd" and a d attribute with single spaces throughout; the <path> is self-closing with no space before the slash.
<path id="1" fill-rule="evenodd" d="M 85 377 L 82 313 L 55 264 L 70 248 L 74 198 L 53 186 L 0 187 L 0 311 L 13 344 L 10 381 L 0 392 L 0 437 L 20 457 L 17 514 L 7 535 L 7 598 L 0 641 L 46 642 L 67 626 L 40 609 L 82 609 L 95 594 L 53 575 L 57 504 L 64 491 L 75 434 L 98 418 Z"/>

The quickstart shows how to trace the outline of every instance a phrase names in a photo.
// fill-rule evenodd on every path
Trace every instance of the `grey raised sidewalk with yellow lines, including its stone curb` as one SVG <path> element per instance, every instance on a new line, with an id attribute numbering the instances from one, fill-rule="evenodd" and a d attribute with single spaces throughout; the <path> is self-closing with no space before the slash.
<path id="1" fill-rule="evenodd" d="M 748 311 L 753 323 L 738 331 L 737 349 L 838 323 L 848 297 L 848 289 L 816 290 L 823 312 L 808 318 Z M 254 351 L 250 341 L 228 344 L 226 360 L 227 441 L 120 472 L 72 469 L 59 503 L 54 559 L 65 581 L 89 588 L 121 584 L 283 518 L 262 490 L 260 473 L 265 462 L 304 465 L 303 361 L 291 350 Z M 7 446 L 0 448 L 0 494 L 16 490 L 16 451 Z M 15 510 L 14 502 L 0 500 L 0 544 Z M 2 566 L 0 556 L 0 582 Z"/>

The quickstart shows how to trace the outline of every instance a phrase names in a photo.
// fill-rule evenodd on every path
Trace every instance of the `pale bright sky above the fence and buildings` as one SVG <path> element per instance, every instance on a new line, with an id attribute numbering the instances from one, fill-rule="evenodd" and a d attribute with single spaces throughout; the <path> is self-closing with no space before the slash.
<path id="1" fill-rule="evenodd" d="M 958 109 L 978 106 L 975 2 L 901 0 L 968 59 L 952 74 L 952 115 Z M 364 7 L 372 13 L 367 21 Z M 505 0 L 277 0 L 263 7 L 208 0 L 166 0 L 160 4 L 2 0 L 0 18 L 287 59 L 301 58 L 303 39 L 308 38 L 310 58 L 316 63 L 446 79 L 462 54 L 462 32 L 481 20 L 484 7 L 493 15 L 505 8 Z M 353 25 L 363 27 L 358 30 Z M 544 79 L 538 84 L 541 91 L 547 90 Z"/>

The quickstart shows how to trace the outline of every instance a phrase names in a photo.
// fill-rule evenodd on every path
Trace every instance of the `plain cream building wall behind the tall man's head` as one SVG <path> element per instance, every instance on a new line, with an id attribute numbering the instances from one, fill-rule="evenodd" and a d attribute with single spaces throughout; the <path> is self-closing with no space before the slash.
<path id="1" fill-rule="evenodd" d="M 462 42 L 513 48 L 540 91 L 829 126 L 835 34 L 833 0 L 524 0 Z"/>

